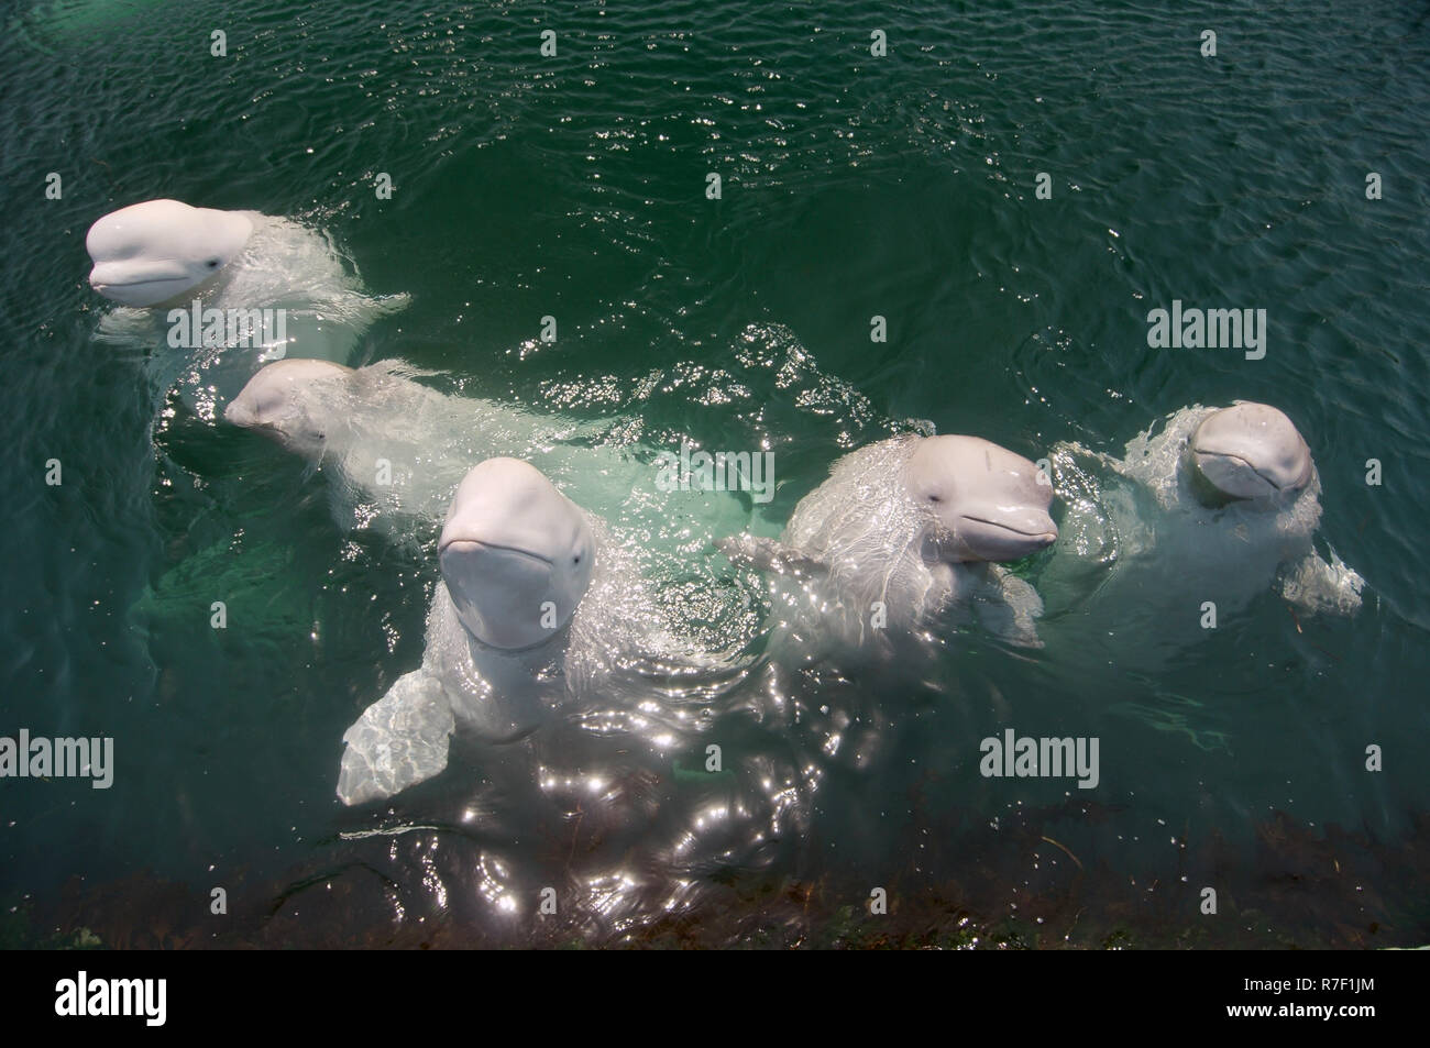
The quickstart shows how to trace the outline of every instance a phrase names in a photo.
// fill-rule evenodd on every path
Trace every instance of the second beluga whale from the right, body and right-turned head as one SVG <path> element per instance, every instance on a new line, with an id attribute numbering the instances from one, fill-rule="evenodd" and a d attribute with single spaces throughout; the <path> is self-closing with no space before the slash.
<path id="1" fill-rule="evenodd" d="M 795 506 L 781 540 L 719 543 L 774 573 L 782 659 L 874 653 L 888 639 L 972 612 L 991 632 L 1037 645 L 1042 605 L 1000 568 L 1057 538 L 1052 486 L 1032 462 L 974 436 L 901 436 L 839 459 Z"/>

